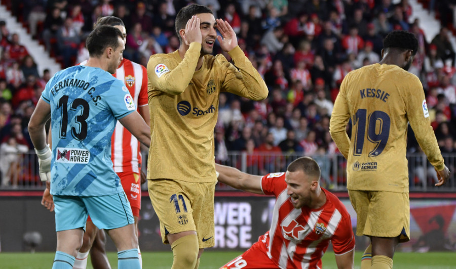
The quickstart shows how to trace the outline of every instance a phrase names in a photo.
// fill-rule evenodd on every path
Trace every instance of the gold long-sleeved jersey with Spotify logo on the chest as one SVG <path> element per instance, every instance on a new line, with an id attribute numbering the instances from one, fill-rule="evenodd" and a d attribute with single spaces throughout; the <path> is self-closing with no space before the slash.
<path id="1" fill-rule="evenodd" d="M 263 100 L 268 88 L 236 47 L 236 66 L 218 54 L 205 55 L 195 71 L 201 44 L 193 42 L 184 59 L 178 51 L 156 54 L 147 63 L 150 148 L 147 178 L 215 182 L 213 133 L 221 92 Z"/>

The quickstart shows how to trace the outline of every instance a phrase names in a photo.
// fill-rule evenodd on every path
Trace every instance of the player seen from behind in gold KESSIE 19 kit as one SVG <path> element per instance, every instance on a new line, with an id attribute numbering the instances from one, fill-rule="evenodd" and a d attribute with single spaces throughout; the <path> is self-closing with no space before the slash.
<path id="1" fill-rule="evenodd" d="M 362 269 L 392 268 L 397 244 L 410 240 L 405 158 L 408 123 L 437 171 L 436 186 L 449 177 L 430 125 L 423 85 L 406 71 L 417 50 L 412 33 L 388 34 L 382 61 L 344 78 L 331 115 L 331 136 L 348 160 L 347 189 L 357 213 L 356 234 L 371 240 Z M 350 119 L 349 139 L 346 126 Z"/>

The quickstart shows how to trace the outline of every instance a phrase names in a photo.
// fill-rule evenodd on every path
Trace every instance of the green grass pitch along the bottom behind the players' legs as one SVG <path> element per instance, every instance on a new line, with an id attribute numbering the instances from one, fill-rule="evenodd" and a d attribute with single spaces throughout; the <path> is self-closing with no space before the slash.
<path id="1" fill-rule="evenodd" d="M 201 258 L 200 269 L 218 269 L 224 263 L 234 259 L 241 252 L 232 251 L 205 251 Z M 359 268 L 362 252 L 355 253 L 355 268 Z M 117 268 L 117 254 L 108 253 L 112 269 Z M 143 269 L 169 269 L 172 264 L 172 253 L 169 252 L 143 252 Z M 52 267 L 54 253 L 0 253 L 0 268 L 2 269 L 49 269 Z M 88 269 L 92 269 L 90 260 Z M 328 251 L 323 256 L 324 269 L 336 269 L 334 254 Z M 398 252 L 394 256 L 394 268 L 401 269 L 454 269 L 456 268 L 456 253 L 454 252 L 428 252 L 404 253 Z"/>

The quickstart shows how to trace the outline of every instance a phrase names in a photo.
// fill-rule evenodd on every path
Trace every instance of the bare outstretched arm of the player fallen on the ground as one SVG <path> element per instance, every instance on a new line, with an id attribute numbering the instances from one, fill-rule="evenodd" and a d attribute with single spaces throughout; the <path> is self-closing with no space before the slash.
<path id="1" fill-rule="evenodd" d="M 263 194 L 261 190 L 261 176 L 241 172 L 239 169 L 215 164 L 215 170 L 219 173 L 218 181 L 235 189 Z"/>

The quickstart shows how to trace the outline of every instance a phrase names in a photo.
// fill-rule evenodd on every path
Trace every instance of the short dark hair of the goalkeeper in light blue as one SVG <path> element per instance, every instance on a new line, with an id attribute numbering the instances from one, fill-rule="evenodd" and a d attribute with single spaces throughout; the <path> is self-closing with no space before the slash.
<path id="1" fill-rule="evenodd" d="M 100 25 L 92 30 L 86 40 L 86 47 L 90 57 L 103 55 L 106 48 L 116 50 L 119 47 L 119 37 L 124 38 L 122 32 L 110 25 Z"/>

